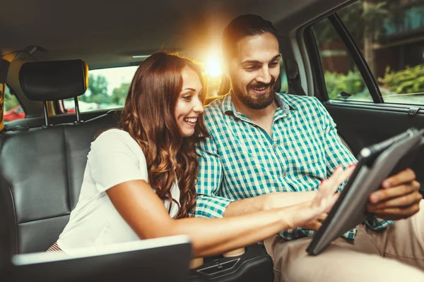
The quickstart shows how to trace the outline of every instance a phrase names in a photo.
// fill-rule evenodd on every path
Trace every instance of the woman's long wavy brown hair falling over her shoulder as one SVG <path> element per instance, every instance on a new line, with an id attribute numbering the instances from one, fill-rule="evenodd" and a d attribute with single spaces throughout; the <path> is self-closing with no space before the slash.
<path id="1" fill-rule="evenodd" d="M 175 120 L 175 104 L 182 90 L 182 69 L 188 66 L 199 75 L 206 97 L 204 72 L 194 62 L 158 52 L 137 69 L 126 96 L 120 128 L 127 131 L 143 150 L 151 187 L 162 200 L 179 204 L 176 218 L 189 216 L 196 205 L 199 161 L 195 143 L 208 136 L 203 116 L 197 118 L 194 135 L 182 137 Z M 204 99 L 204 98 L 203 98 Z M 177 179 L 179 203 L 173 202 L 172 185 Z"/>

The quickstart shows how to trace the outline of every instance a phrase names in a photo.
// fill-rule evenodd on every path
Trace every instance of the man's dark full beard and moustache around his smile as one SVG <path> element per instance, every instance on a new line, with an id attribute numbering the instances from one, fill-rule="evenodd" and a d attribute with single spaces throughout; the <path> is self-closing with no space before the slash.
<path id="1" fill-rule="evenodd" d="M 271 105 L 274 97 L 276 96 L 276 90 L 273 89 L 276 84 L 275 80 L 272 78 L 271 82 L 268 84 L 264 83 L 253 83 L 247 85 L 247 92 L 243 92 L 237 89 L 232 89 L 232 92 L 235 94 L 237 99 L 240 100 L 243 104 L 248 106 L 250 109 L 261 110 L 265 109 L 267 106 Z M 261 88 L 261 87 L 269 87 L 269 92 L 266 94 L 258 94 L 258 95 L 249 95 L 249 89 L 252 88 Z"/>

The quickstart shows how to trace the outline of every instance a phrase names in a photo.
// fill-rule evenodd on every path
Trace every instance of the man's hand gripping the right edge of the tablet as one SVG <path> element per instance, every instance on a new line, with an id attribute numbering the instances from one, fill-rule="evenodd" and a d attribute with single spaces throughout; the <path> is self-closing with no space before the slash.
<path id="1" fill-rule="evenodd" d="M 416 174 L 407 168 L 384 180 L 382 189 L 372 192 L 367 211 L 380 219 L 406 219 L 420 209 L 423 196 L 419 189 Z"/>

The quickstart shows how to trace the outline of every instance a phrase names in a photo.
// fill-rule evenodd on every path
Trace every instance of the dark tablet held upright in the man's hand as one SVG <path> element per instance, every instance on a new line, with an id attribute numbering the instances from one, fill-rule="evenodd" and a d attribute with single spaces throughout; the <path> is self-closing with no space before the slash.
<path id="1" fill-rule="evenodd" d="M 333 240 L 363 223 L 370 194 L 380 188 L 384 179 L 411 164 L 416 150 L 424 144 L 423 133 L 410 128 L 360 151 L 351 178 L 307 247 L 310 255 L 318 255 Z"/>

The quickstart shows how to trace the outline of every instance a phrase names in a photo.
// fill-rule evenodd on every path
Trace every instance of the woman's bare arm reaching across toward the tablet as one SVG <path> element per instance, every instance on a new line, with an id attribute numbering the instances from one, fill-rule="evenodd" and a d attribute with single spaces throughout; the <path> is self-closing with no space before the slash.
<path id="1" fill-rule="evenodd" d="M 144 180 L 115 185 L 107 190 L 107 195 L 140 238 L 186 234 L 192 240 L 193 255 L 197 257 L 256 243 L 279 231 L 313 220 L 334 204 L 334 192 L 352 171 L 351 168 L 346 171 L 339 168 L 322 183 L 312 201 L 223 219 L 171 219 L 163 202 Z"/>

